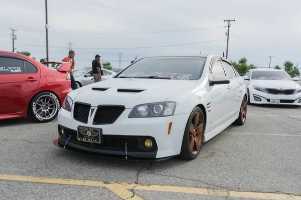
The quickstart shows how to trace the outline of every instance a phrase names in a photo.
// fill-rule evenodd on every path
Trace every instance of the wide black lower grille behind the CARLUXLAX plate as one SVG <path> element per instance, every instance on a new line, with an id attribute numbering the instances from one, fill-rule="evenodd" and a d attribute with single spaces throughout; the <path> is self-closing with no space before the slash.
<path id="1" fill-rule="evenodd" d="M 100 144 L 97 143 L 88 143 L 82 142 L 77 140 L 77 132 L 74 130 L 70 130 L 64 128 L 64 133 L 67 138 L 70 137 L 70 141 L 75 143 L 80 143 L 81 145 L 88 146 L 88 147 L 95 147 L 95 148 L 107 148 L 107 149 L 115 149 L 115 150 L 124 150 L 125 143 L 126 148 L 129 150 L 135 149 L 137 147 L 138 139 L 135 137 L 126 137 L 126 136 L 116 136 L 116 135 L 102 135 L 103 142 Z"/>

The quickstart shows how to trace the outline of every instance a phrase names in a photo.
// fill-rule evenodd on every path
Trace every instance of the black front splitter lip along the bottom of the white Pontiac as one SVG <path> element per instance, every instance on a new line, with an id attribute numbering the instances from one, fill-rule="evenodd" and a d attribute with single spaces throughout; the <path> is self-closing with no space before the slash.
<path id="1" fill-rule="evenodd" d="M 54 140 L 53 143 L 54 143 L 54 145 L 56 145 L 60 148 L 64 148 L 64 144 L 60 143 L 58 141 L 58 139 Z M 73 152 L 77 152 L 77 153 L 80 153 L 80 154 L 84 154 L 84 155 L 94 156 L 94 157 L 119 159 L 119 160 L 129 160 L 129 161 L 161 161 L 161 160 L 166 160 L 166 159 L 170 159 L 170 158 L 178 156 L 178 155 L 172 155 L 172 156 L 162 157 L 162 158 L 142 158 L 142 157 L 133 157 L 133 156 L 127 155 L 127 159 L 126 159 L 125 158 L 125 153 L 124 153 L 124 155 L 117 155 L 117 154 L 92 152 L 92 151 L 87 151 L 87 150 L 83 150 L 83 149 L 79 149 L 79 148 L 74 148 L 74 147 L 72 147 L 68 144 L 65 146 L 65 149 L 71 150 Z"/>

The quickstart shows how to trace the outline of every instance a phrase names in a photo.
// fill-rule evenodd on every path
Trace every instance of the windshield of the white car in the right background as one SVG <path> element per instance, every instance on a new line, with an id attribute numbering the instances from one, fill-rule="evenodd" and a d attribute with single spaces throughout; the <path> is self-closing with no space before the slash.
<path id="1" fill-rule="evenodd" d="M 285 71 L 258 70 L 252 72 L 252 79 L 292 80 Z"/>

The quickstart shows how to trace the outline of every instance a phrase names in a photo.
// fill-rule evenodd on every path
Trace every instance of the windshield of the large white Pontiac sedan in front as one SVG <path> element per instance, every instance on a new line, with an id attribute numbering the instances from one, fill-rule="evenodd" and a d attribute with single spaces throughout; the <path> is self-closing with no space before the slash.
<path id="1" fill-rule="evenodd" d="M 147 57 L 134 62 L 117 77 L 163 77 L 197 80 L 205 60 L 205 57 Z"/>

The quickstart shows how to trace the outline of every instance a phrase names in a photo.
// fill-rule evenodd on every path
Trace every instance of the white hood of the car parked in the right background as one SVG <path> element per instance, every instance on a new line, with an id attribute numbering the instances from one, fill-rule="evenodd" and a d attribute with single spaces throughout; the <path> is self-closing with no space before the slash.
<path id="1" fill-rule="evenodd" d="M 296 89 L 299 88 L 298 85 L 293 80 L 260 80 L 260 79 L 252 79 L 252 83 L 257 86 L 266 87 L 266 88 L 291 88 Z"/>

